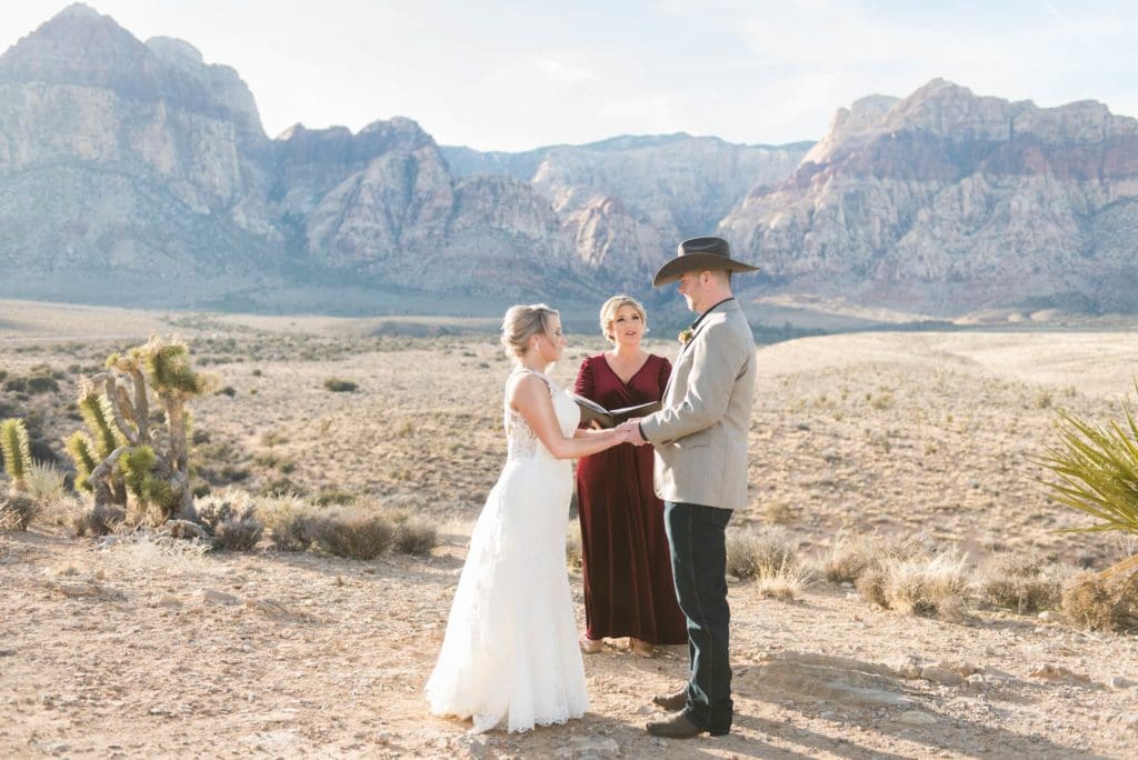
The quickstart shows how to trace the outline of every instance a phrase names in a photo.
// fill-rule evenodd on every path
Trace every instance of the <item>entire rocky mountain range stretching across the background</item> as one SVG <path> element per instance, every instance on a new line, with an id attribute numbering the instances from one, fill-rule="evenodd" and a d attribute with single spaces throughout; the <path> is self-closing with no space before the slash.
<path id="1" fill-rule="evenodd" d="M 678 240 L 762 267 L 745 297 L 923 314 L 1135 311 L 1138 122 L 935 80 L 826 137 L 526 152 L 407 118 L 269 138 L 236 71 L 73 5 L 0 56 L 0 296 L 493 313 L 648 296 Z"/>

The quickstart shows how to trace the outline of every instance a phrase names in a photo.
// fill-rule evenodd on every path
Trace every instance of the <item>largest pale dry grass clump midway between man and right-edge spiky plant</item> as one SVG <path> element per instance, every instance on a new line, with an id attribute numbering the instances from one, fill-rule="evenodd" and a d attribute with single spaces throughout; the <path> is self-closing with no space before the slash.
<path id="1" fill-rule="evenodd" d="M 932 557 L 890 557 L 856 583 L 867 600 L 906 614 L 956 618 L 968 592 L 965 557 L 955 552 Z"/>

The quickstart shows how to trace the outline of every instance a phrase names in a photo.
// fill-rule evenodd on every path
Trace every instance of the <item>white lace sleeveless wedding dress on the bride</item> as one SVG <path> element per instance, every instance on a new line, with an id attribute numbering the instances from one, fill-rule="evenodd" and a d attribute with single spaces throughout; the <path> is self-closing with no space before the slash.
<path id="1" fill-rule="evenodd" d="M 577 404 L 534 374 L 550 388 L 561 432 L 572 436 Z M 426 687 L 431 712 L 471 718 L 475 733 L 563 724 L 588 709 L 566 570 L 571 465 L 553 459 L 509 404 L 505 432 L 506 463 L 470 536 Z"/>

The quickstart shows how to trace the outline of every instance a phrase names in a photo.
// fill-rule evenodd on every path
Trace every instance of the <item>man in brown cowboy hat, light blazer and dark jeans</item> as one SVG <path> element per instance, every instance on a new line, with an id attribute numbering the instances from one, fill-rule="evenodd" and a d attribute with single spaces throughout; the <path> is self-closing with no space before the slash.
<path id="1" fill-rule="evenodd" d="M 687 618 L 691 680 L 652 701 L 676 712 L 648 724 L 667 738 L 731 730 L 726 528 L 747 505 L 747 432 L 754 397 L 754 338 L 731 292 L 733 272 L 758 267 L 735 261 L 721 238 L 679 243 L 678 256 L 655 273 L 653 287 L 679 281 L 687 307 L 700 316 L 663 391 L 663 408 L 621 427 L 636 428 L 655 447 L 655 493 L 665 526 L 679 609 Z"/>

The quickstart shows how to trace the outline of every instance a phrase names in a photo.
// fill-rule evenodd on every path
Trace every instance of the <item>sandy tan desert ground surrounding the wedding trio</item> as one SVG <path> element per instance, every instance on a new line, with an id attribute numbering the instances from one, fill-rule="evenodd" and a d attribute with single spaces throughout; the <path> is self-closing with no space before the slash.
<path id="1" fill-rule="evenodd" d="M 793 567 L 733 576 L 731 735 L 648 736 L 651 696 L 685 679 L 686 652 L 635 658 L 622 641 L 586 656 L 583 720 L 470 735 L 430 716 L 422 687 L 505 454 L 495 324 L 0 301 L 5 377 L 56 380 L 42 393 L 0 382 L 0 418 L 31 414 L 56 454 L 82 426 L 83 374 L 151 332 L 176 334 L 217 378 L 191 404 L 191 459 L 213 495 L 397 509 L 438 540 L 358 561 L 267 537 L 249 552 L 152 531 L 76 537 L 76 502 L 61 499 L 28 530 L 0 532 L 0 754 L 1132 755 L 1136 631 L 1086 629 L 1054 600 L 1000 603 L 984 580 L 1015 561 L 1058 584 L 1138 552 L 1115 534 L 1057 532 L 1090 521 L 1053 501 L 1033 461 L 1057 410 L 1107 422 L 1135 402 L 1125 320 L 759 347 L 750 505 L 731 530 L 791 547 Z M 554 378 L 571 385 L 602 348 L 571 334 Z M 951 604 L 887 609 L 835 580 L 842 547 L 859 542 L 939 557 L 957 580 Z M 583 619 L 571 551 L 567 569 Z"/>

